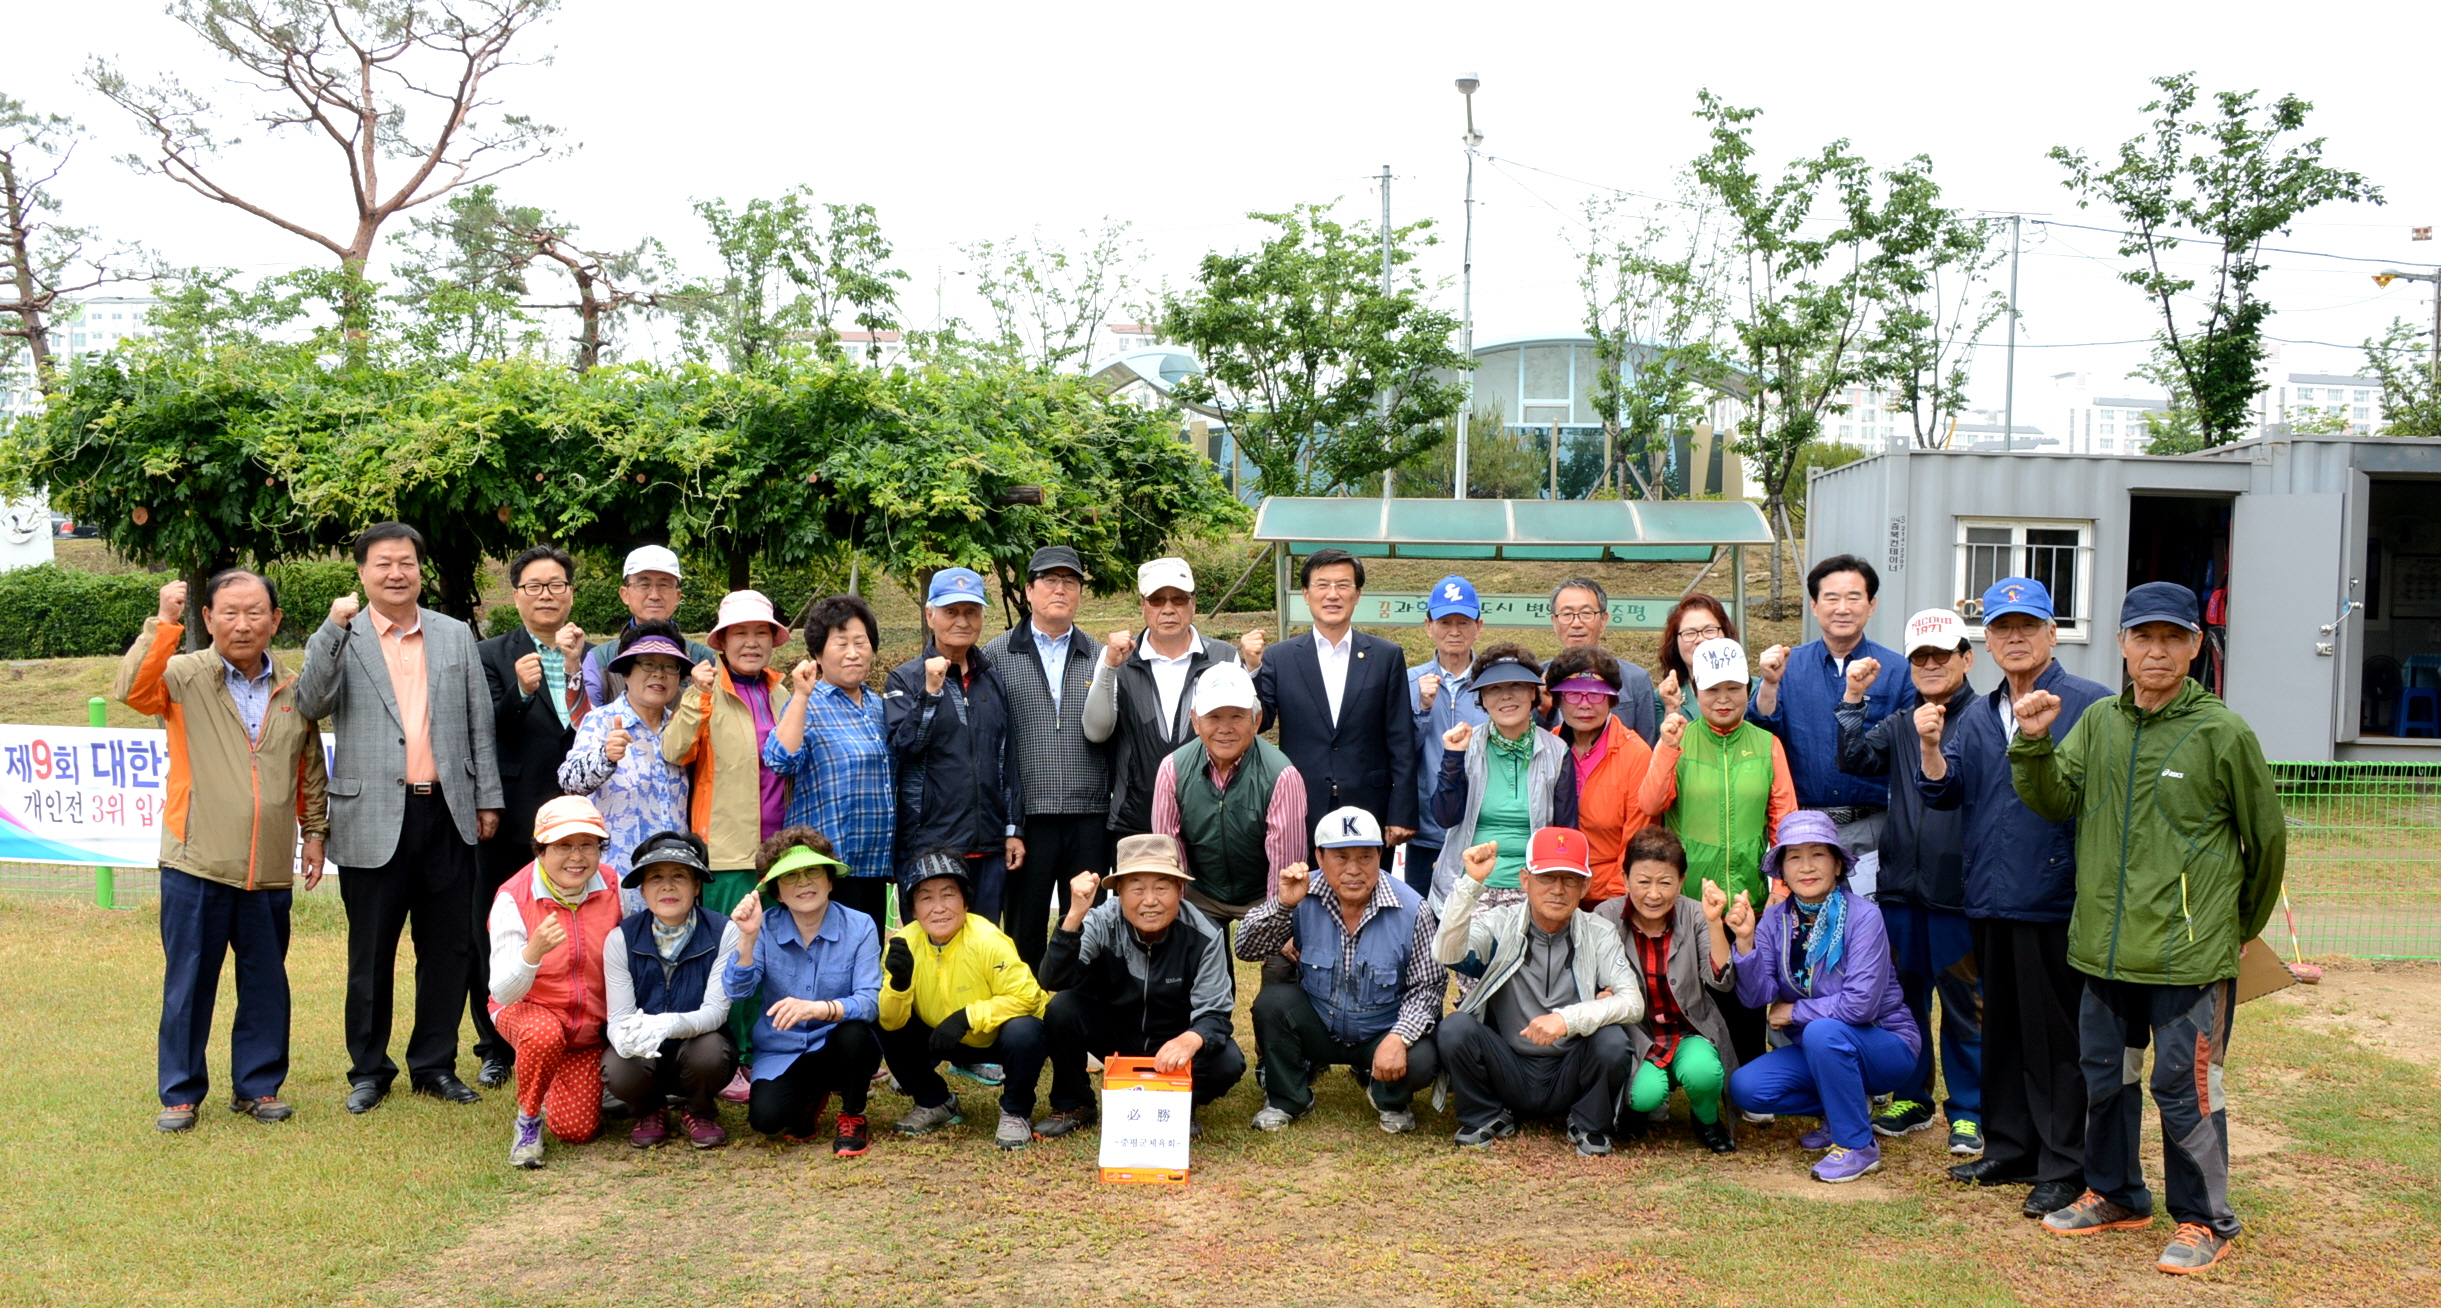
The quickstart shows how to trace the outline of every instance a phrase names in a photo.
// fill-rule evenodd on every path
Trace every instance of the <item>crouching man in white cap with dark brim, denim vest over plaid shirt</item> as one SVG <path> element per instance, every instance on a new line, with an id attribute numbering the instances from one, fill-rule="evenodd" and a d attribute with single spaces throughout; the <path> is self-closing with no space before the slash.
<path id="1" fill-rule="evenodd" d="M 1313 1113 L 1313 1074 L 1347 1066 L 1367 1086 L 1382 1130 L 1416 1130 L 1416 1091 L 1440 1076 L 1433 1025 L 1450 991 L 1433 959 L 1438 922 L 1423 896 L 1382 871 L 1382 825 L 1362 808 L 1325 813 L 1313 827 L 1321 891 L 1306 864 L 1245 915 L 1238 957 L 1269 959 L 1296 944 L 1296 983 L 1255 993 L 1262 1098 L 1255 1130 Z"/>

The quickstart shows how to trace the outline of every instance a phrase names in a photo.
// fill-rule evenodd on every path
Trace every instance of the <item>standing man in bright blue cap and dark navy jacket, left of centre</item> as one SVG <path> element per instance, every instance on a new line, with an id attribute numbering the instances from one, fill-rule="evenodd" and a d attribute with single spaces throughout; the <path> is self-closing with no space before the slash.
<path id="1" fill-rule="evenodd" d="M 998 661 L 979 649 L 984 578 L 974 569 L 932 573 L 923 608 L 923 654 L 891 669 L 881 717 L 898 756 L 901 876 L 918 857 L 964 861 L 972 910 L 1001 920 L 1008 869 L 1025 866 L 1025 803 L 1008 744 L 1008 691 Z M 901 905 L 901 915 L 908 908 Z"/>

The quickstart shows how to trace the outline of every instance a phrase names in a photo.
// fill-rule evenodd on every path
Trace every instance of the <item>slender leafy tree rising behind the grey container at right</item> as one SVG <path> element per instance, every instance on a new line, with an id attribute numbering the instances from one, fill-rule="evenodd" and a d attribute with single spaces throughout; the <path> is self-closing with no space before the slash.
<path id="1" fill-rule="evenodd" d="M 2068 168 L 2077 207 L 2107 205 L 2126 225 L 2119 254 L 2136 266 L 2119 278 L 2160 312 L 2160 344 L 2194 398 L 2202 444 L 2229 444 L 2248 429 L 2263 393 L 2263 322 L 2273 312 L 2255 295 L 2263 242 L 2319 205 L 2380 205 L 2382 190 L 2360 173 L 2326 166 L 2324 137 L 2295 139 L 2314 107 L 2295 95 L 2258 105 L 2255 90 L 2221 90 L 2212 95 L 2214 117 L 2197 112 L 2194 73 L 2153 78 L 2153 85 L 2160 95 L 2143 105 L 2155 115 L 2148 137 L 2124 142 L 2114 161 L 2068 146 L 2053 146 L 2050 159 Z M 2192 295 L 2199 278 L 2168 266 L 2185 239 L 2219 246 L 2202 295 Z M 2199 298 L 2204 312 L 2182 322 L 2180 300 L 2190 298 Z"/>

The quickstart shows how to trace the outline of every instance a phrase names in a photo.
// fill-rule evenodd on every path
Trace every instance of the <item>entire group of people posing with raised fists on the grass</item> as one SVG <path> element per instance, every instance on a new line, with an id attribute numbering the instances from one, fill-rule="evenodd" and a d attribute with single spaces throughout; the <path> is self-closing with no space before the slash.
<path id="1" fill-rule="evenodd" d="M 605 1113 L 632 1113 L 637 1147 L 718 1147 L 723 1101 L 788 1140 L 827 1115 L 854 1157 L 884 1076 L 913 1101 L 898 1132 L 959 1123 L 945 1069 L 998 1088 L 1003 1149 L 1091 1127 L 1106 1057 L 1189 1071 L 1201 1110 L 1247 1071 L 1247 961 L 1257 1130 L 1311 1113 L 1328 1066 L 1386 1132 L 1445 1088 L 1460 1147 L 1562 1118 L 1609 1154 L 1672 1093 L 1721 1154 L 1738 1123 L 1814 1118 L 1799 1144 L 1828 1184 L 1938 1120 L 1972 1159 L 1958 1181 L 2024 1186 L 2082 1235 L 2151 1223 L 2151 1044 L 2180 1223 L 2158 1267 L 2209 1267 L 2238 1232 L 2219 1071 L 2282 817 L 2248 727 L 2187 678 L 2177 586 L 2129 593 L 2111 695 L 2053 661 L 2038 581 L 1994 583 L 1980 693 L 1958 613 L 1911 615 L 1904 652 L 1865 637 L 1880 578 L 1855 556 L 1806 576 L 1821 637 L 1753 661 L 1689 593 L 1655 678 L 1604 649 L 1587 578 L 1552 593 L 1548 661 L 1482 642 L 1474 586 L 1443 578 L 1408 666 L 1355 630 L 1365 561 L 1340 549 L 1303 559 L 1311 630 L 1267 647 L 1196 630 L 1181 559 L 1142 564 L 1142 622 L 1094 639 L 1084 564 L 1045 547 L 1025 620 L 989 642 L 984 578 L 932 573 L 923 652 L 876 678 L 854 595 L 808 605 L 786 669 L 788 622 L 754 591 L 691 642 L 664 547 L 627 556 L 630 620 L 603 642 L 566 620 L 559 549 L 510 561 L 520 627 L 483 642 L 417 605 L 415 530 L 376 525 L 354 559 L 364 598 L 332 603 L 300 669 L 271 656 L 278 595 L 247 571 L 210 578 L 207 649 L 178 652 L 171 583 L 122 664 L 120 698 L 171 735 L 161 1130 L 195 1125 L 232 952 L 232 1110 L 293 1113 L 288 908 L 327 854 L 347 1108 L 398 1076 L 410 930 L 410 1088 L 478 1098 L 456 1076 L 471 1005 L 476 1081 L 515 1081 L 520 1166 Z"/>

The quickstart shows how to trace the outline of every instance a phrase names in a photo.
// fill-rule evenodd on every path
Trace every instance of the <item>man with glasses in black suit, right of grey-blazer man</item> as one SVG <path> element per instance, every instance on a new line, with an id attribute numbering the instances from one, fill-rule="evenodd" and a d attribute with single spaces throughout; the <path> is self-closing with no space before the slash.
<path id="1" fill-rule="evenodd" d="M 576 561 L 564 549 L 537 544 L 508 561 L 508 586 L 520 627 L 476 644 L 483 681 L 491 683 L 491 730 L 500 756 L 508 808 L 500 830 L 483 842 L 474 879 L 474 930 L 488 940 L 486 918 L 500 883 L 532 861 L 535 810 L 559 798 L 559 764 L 576 742 L 586 715 L 583 627 L 569 622 L 576 608 Z M 483 1059 L 476 1081 L 508 1081 L 515 1049 L 491 1027 L 491 947 L 466 954 L 466 1005 L 474 1010 L 474 1054 Z"/>

